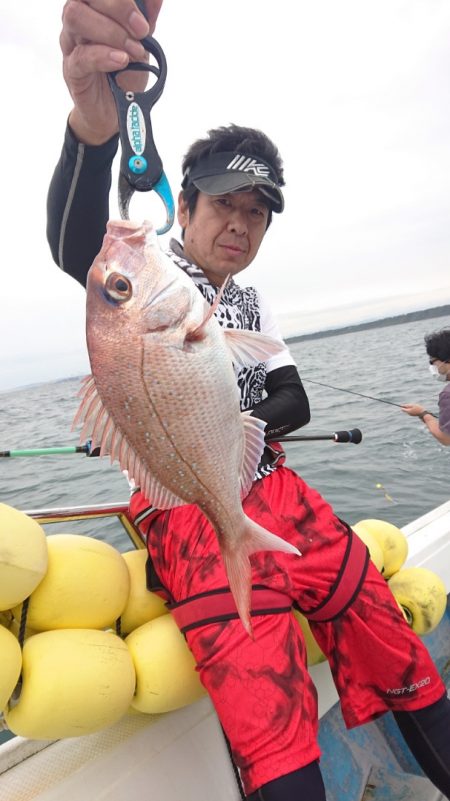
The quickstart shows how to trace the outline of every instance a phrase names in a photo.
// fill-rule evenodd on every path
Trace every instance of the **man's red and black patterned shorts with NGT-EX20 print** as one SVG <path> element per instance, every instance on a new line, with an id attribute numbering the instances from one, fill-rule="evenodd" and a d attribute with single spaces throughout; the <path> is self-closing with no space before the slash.
<path id="1" fill-rule="evenodd" d="M 134 518 L 148 506 L 140 493 L 130 505 Z M 339 577 L 348 527 L 286 467 L 254 482 L 243 506 L 302 553 L 255 554 L 253 583 L 281 590 L 306 614 L 312 612 Z M 196 506 L 158 512 L 140 528 L 173 601 L 228 586 L 216 534 Z M 247 794 L 320 755 L 316 691 L 299 625 L 291 612 L 254 617 L 252 624 L 253 640 L 240 620 L 186 633 Z M 346 611 L 331 622 L 311 622 L 311 628 L 328 658 L 349 728 L 389 709 L 420 709 L 445 692 L 428 651 L 372 563 Z"/>

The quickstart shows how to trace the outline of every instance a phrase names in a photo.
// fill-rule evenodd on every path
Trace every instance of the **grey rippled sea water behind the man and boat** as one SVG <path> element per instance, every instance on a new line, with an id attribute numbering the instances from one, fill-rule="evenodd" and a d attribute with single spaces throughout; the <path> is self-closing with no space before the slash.
<path id="1" fill-rule="evenodd" d="M 288 443 L 287 464 L 350 524 L 375 517 L 402 526 L 450 498 L 450 448 L 440 445 L 417 418 L 382 402 L 417 402 L 437 411 L 442 384 L 428 371 L 423 337 L 448 322 L 437 317 L 291 345 L 312 414 L 310 424 L 297 433 L 360 428 L 363 439 L 359 445 Z M 71 424 L 80 383 L 80 378 L 69 378 L 0 394 L 0 450 L 78 444 L 79 431 L 71 431 Z M 127 483 L 106 457 L 0 458 L 0 502 L 19 509 L 127 499 Z M 69 529 L 65 524 L 63 530 L 76 533 L 76 525 Z M 93 524 L 82 525 L 90 530 Z M 92 533 L 119 547 L 114 526 L 102 521 Z"/>

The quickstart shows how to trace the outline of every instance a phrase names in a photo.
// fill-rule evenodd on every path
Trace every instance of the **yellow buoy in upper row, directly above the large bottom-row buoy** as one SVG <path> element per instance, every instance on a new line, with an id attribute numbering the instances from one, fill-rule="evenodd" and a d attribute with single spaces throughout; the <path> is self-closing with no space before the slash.
<path id="1" fill-rule="evenodd" d="M 81 534 L 53 534 L 47 547 L 47 573 L 28 608 L 31 629 L 102 629 L 121 615 L 130 576 L 119 551 Z M 13 613 L 20 620 L 22 605 Z"/>

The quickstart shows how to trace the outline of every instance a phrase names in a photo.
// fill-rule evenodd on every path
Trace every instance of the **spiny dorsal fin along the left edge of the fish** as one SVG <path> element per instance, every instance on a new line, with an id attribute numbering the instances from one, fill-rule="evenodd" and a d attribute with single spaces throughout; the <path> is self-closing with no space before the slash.
<path id="1" fill-rule="evenodd" d="M 120 469 L 126 470 L 130 479 L 141 488 L 147 500 L 158 509 L 173 509 L 186 503 L 155 478 L 134 451 L 127 438 L 115 425 L 111 415 L 103 406 L 92 376 L 84 379 L 80 390 L 81 403 L 75 415 L 72 429 L 82 422 L 80 442 L 91 437 L 91 450 L 100 446 L 100 455 L 109 454 L 111 463 L 118 461 Z"/>

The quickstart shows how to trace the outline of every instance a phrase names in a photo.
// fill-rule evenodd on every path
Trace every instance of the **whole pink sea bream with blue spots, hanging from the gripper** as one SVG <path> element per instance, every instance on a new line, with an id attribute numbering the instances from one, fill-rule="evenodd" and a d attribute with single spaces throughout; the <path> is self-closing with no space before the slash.
<path id="1" fill-rule="evenodd" d="M 149 502 L 197 504 L 214 527 L 236 606 L 251 633 L 249 554 L 297 549 L 248 518 L 265 423 L 241 413 L 233 369 L 279 343 L 223 329 L 149 223 L 108 223 L 87 284 L 92 378 L 74 423 L 117 459 Z"/>

